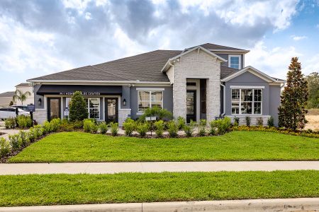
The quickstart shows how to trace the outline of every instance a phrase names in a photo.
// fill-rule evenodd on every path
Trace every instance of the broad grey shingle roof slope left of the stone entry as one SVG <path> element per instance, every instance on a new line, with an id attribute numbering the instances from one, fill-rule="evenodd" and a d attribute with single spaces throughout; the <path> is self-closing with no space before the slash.
<path id="1" fill-rule="evenodd" d="M 161 70 L 169 58 L 181 51 L 156 50 L 132 57 L 108 61 L 94 66 L 52 73 L 31 80 L 85 80 L 85 81 L 151 81 L 169 82 Z"/>

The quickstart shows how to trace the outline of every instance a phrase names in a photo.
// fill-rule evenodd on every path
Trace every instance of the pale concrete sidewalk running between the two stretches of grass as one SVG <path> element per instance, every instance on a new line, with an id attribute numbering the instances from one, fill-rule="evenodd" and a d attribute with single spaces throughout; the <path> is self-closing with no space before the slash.
<path id="1" fill-rule="evenodd" d="M 0 175 L 113 174 L 118 172 L 216 172 L 319 170 L 319 161 L 2 163 Z"/>

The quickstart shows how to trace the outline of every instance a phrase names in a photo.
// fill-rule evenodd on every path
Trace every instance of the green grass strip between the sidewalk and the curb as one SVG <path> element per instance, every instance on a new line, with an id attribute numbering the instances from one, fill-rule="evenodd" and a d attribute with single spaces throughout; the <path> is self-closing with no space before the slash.
<path id="1" fill-rule="evenodd" d="M 0 176 L 0 206 L 319 196 L 319 171 Z"/>

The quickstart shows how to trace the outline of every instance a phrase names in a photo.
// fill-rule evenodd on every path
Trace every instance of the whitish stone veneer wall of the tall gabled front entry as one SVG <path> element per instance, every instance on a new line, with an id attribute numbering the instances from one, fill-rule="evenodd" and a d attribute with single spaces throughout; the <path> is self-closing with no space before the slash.
<path id="1" fill-rule="evenodd" d="M 174 117 L 186 118 L 186 78 L 207 79 L 207 121 L 220 115 L 220 61 L 194 50 L 174 63 Z M 199 107 L 199 105 L 198 105 Z"/>

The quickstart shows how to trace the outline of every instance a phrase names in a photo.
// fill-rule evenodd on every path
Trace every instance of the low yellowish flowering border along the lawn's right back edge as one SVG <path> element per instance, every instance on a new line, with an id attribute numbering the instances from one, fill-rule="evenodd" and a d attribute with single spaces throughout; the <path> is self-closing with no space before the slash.
<path id="1" fill-rule="evenodd" d="M 274 126 L 233 126 L 234 131 L 267 131 L 276 132 L 281 134 L 293 135 L 293 136 L 305 136 L 309 138 L 319 139 L 319 131 L 313 131 L 311 129 L 293 131 L 291 129 L 278 128 Z"/>

